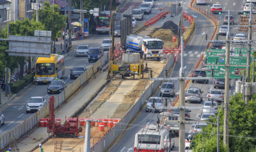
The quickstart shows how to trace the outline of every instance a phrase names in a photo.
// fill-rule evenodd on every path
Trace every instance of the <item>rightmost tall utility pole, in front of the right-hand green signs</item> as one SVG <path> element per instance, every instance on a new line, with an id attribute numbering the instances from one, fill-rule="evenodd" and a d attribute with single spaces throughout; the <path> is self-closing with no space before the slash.
<path id="1" fill-rule="evenodd" d="M 250 19 L 249 19 L 249 27 L 248 27 L 248 40 L 251 40 L 252 38 L 252 1 L 251 1 L 251 7 L 250 7 Z M 251 42 L 248 41 L 248 46 L 247 46 L 247 68 L 246 68 L 246 77 L 247 77 L 247 82 L 250 82 L 250 63 L 251 63 Z M 244 85 L 244 84 L 243 84 Z M 244 91 L 244 90 L 243 90 Z M 249 101 L 249 97 L 248 95 L 245 96 L 244 98 L 244 102 L 246 103 L 246 105 L 248 105 L 248 101 Z"/>

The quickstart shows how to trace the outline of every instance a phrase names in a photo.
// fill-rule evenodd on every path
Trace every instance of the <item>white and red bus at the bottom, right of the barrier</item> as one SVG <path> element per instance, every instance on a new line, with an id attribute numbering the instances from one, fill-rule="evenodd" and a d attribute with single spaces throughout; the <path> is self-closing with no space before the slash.
<path id="1" fill-rule="evenodd" d="M 135 135 L 134 152 L 169 152 L 174 147 L 174 136 L 166 125 L 146 125 Z"/>

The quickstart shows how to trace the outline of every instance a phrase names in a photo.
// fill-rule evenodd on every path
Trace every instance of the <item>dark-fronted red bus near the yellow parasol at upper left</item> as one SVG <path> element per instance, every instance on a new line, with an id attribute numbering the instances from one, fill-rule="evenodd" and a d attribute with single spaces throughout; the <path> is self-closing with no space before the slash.
<path id="1" fill-rule="evenodd" d="M 108 33 L 110 26 L 110 15 L 96 16 L 96 32 L 97 33 Z"/>

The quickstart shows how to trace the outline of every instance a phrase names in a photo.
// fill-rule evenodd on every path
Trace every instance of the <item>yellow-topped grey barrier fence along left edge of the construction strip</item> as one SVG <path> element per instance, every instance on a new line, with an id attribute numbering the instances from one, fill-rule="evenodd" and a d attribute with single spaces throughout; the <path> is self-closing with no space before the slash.
<path id="1" fill-rule="evenodd" d="M 67 88 L 61 92 L 58 96 L 54 97 L 54 109 L 59 107 L 63 102 L 67 101 L 78 89 L 88 82 L 94 74 L 100 70 L 100 66 L 104 65 L 109 60 L 108 53 L 103 55 L 94 65 L 80 75 L 74 82 L 72 82 Z M 24 111 L 25 112 L 25 111 Z M 23 137 L 27 132 L 39 124 L 41 118 L 47 117 L 49 114 L 49 106 L 47 105 L 33 114 L 30 118 L 23 121 L 21 124 L 14 127 L 12 130 L 8 130 L 0 135 L 0 149 L 4 149 L 10 143 L 10 139 L 17 140 Z"/>

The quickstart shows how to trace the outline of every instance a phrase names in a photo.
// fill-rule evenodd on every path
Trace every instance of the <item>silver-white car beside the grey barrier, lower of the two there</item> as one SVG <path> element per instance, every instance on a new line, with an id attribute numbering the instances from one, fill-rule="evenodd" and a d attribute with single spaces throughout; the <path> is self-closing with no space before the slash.
<path id="1" fill-rule="evenodd" d="M 149 112 L 151 110 L 163 112 L 162 108 L 159 108 L 163 106 L 162 98 L 160 97 L 150 97 L 148 101 L 146 101 L 146 108 L 145 111 Z"/>

